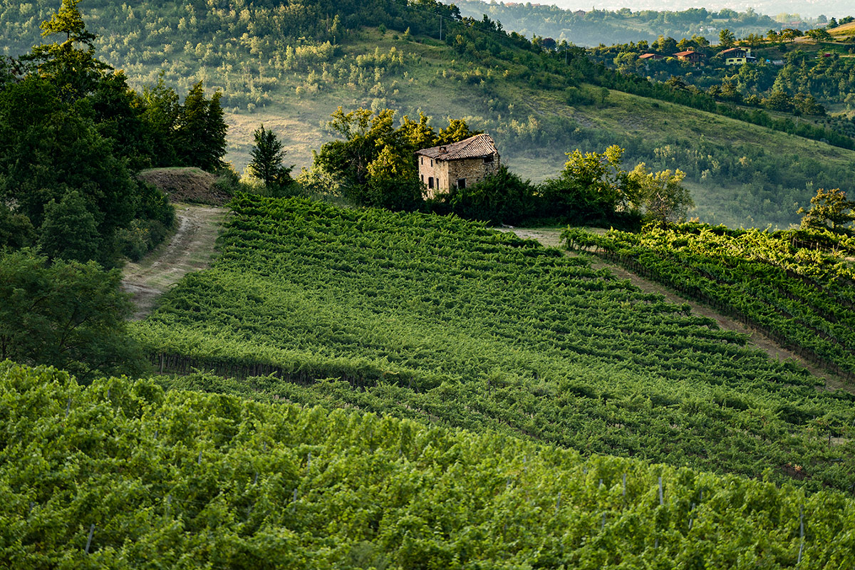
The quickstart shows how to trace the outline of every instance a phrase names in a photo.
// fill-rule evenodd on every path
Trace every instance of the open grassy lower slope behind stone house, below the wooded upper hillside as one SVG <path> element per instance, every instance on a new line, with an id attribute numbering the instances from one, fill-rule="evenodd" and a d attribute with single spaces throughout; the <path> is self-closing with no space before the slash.
<path id="1" fill-rule="evenodd" d="M 797 223 L 799 207 L 810 203 L 812 188 L 849 188 L 855 179 L 855 152 L 775 132 L 721 115 L 609 91 L 602 100 L 593 85 L 568 91 L 544 90 L 521 80 L 520 67 L 475 68 L 444 44 L 394 38 L 389 32 L 361 32 L 360 41 L 342 47 L 355 59 L 376 46 L 395 50 L 407 65 L 388 72 L 382 97 L 335 82 L 312 83 L 303 74 L 282 79 L 268 91 L 271 103 L 252 112 L 228 114 L 229 159 L 248 161 L 251 132 L 258 123 L 279 127 L 289 148 L 288 161 L 310 166 L 311 150 L 330 135 L 323 125 L 339 105 L 345 109 L 390 107 L 399 115 L 419 110 L 439 124 L 464 117 L 497 140 L 502 158 L 523 178 L 555 176 L 565 152 L 602 151 L 610 144 L 627 149 L 628 165 L 646 162 L 656 169 L 680 168 L 697 205 L 690 215 L 729 226 L 787 227 Z M 298 94 L 299 93 L 299 94 Z M 587 102 L 568 104 L 570 97 Z M 278 103 L 277 103 L 278 102 Z M 284 112 L 283 112 L 284 111 Z"/>

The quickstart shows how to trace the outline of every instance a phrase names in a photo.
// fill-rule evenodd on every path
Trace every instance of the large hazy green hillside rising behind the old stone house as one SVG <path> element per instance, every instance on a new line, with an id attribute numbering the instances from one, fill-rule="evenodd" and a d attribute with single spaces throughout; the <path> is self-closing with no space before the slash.
<path id="1" fill-rule="evenodd" d="M 0 6 L 9 55 L 37 42 L 38 21 L 55 9 L 47 0 Z M 813 194 L 809 185 L 853 190 L 853 152 L 606 94 L 584 83 L 605 73 L 596 66 L 578 60 L 564 68 L 524 38 L 492 22 L 458 22 L 439 4 L 316 0 L 289 11 L 239 0 L 217 9 L 93 0 L 83 8 L 101 35 L 97 55 L 123 68 L 133 85 L 153 85 L 163 72 L 180 91 L 198 79 L 223 91 L 229 159 L 238 169 L 261 122 L 282 133 L 292 163 L 308 166 L 311 150 L 331 136 L 329 114 L 342 105 L 399 115 L 421 109 L 438 123 L 464 117 L 491 132 L 510 167 L 535 180 L 557 173 L 564 152 L 620 144 L 630 166 L 686 171 L 699 205 L 694 215 L 731 226 L 796 222 L 796 209 Z M 442 42 L 437 14 L 445 14 Z M 363 27 L 380 24 L 388 31 Z"/>

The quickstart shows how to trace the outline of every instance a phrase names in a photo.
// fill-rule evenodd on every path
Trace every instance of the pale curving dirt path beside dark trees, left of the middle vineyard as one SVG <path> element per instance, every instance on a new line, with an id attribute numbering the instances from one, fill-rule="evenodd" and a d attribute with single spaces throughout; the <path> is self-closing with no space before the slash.
<path id="1" fill-rule="evenodd" d="M 157 297 L 187 273 L 208 267 L 214 242 L 228 210 L 197 204 L 175 204 L 178 229 L 139 263 L 124 269 L 122 289 L 133 295 L 133 320 L 144 319 Z"/>

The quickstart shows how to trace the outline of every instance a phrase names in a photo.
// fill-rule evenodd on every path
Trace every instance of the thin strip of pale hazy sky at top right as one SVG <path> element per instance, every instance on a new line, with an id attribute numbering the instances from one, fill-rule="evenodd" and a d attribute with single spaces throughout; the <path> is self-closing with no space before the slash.
<path id="1" fill-rule="evenodd" d="M 531 0 L 516 0 L 518 2 Z M 705 8 L 719 10 L 722 8 L 745 12 L 753 8 L 760 14 L 778 15 L 799 14 L 806 18 L 816 18 L 823 14 L 828 17 L 840 18 L 855 15 L 855 0 L 534 0 L 532 3 L 555 4 L 565 9 L 621 9 L 632 10 L 685 10 L 689 8 Z"/>

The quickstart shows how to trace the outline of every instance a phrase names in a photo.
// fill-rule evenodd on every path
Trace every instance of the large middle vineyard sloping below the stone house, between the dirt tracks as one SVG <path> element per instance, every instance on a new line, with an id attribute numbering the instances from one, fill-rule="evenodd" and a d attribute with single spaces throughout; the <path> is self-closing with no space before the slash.
<path id="1" fill-rule="evenodd" d="M 214 266 L 134 328 L 163 373 L 242 379 L 192 387 L 855 485 L 855 397 L 587 261 L 454 217 L 233 209 Z"/>

